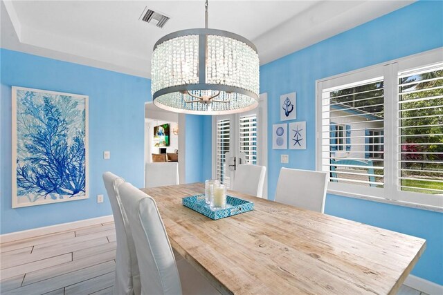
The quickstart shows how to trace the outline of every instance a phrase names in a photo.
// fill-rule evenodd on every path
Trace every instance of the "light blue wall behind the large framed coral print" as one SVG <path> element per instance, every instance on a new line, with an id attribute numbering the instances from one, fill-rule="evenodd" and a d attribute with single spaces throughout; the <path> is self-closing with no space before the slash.
<path id="1" fill-rule="evenodd" d="M 33 229 L 111 214 L 102 173 L 113 171 L 143 187 L 144 103 L 150 80 L 1 49 L 1 228 Z M 89 95 L 89 199 L 11 208 L 11 86 Z M 111 159 L 103 160 L 103 151 Z"/>

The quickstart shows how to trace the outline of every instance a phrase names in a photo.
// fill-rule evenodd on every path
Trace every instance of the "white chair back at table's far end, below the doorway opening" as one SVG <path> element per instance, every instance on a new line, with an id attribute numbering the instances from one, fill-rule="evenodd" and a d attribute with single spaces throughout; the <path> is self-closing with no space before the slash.
<path id="1" fill-rule="evenodd" d="M 179 164 L 146 163 L 145 187 L 163 187 L 164 185 L 179 184 Z"/>

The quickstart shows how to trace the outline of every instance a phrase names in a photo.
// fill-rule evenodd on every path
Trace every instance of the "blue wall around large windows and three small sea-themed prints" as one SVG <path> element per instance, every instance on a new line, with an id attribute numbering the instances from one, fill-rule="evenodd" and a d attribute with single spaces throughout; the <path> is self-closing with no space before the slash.
<path id="1" fill-rule="evenodd" d="M 268 133 L 280 123 L 279 99 L 297 92 L 297 121 L 307 122 L 305 151 L 272 150 L 268 144 L 269 198 L 282 166 L 316 169 L 316 80 L 443 46 L 443 2 L 419 1 L 260 68 L 260 93 L 268 93 Z M 289 164 L 280 155 L 289 154 Z M 325 212 L 425 238 L 413 274 L 443 285 L 443 214 L 379 202 L 327 196 Z"/>

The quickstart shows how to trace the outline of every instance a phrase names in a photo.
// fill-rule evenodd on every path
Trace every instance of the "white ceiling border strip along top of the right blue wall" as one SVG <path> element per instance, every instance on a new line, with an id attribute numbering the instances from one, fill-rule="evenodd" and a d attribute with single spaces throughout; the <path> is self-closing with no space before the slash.
<path id="1" fill-rule="evenodd" d="M 302 15 L 289 19 L 278 28 L 253 40 L 260 63 L 267 64 L 302 48 L 350 30 L 382 15 L 408 6 L 409 1 L 324 1 Z"/>

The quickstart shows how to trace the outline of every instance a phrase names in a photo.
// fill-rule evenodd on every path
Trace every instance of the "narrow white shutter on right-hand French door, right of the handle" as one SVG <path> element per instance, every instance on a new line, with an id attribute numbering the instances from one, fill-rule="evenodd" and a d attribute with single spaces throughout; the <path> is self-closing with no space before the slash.
<path id="1" fill-rule="evenodd" d="M 246 164 L 257 164 L 257 115 L 239 117 L 239 144 Z"/>

